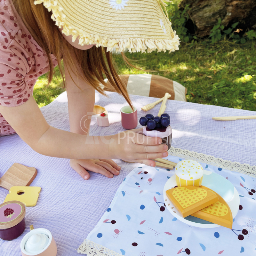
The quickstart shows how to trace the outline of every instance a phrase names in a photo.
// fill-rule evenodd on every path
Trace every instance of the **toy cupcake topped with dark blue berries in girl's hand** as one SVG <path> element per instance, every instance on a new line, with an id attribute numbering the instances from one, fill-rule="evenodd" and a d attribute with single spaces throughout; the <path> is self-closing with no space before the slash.
<path id="1" fill-rule="evenodd" d="M 168 150 L 172 144 L 172 127 L 170 123 L 170 116 L 167 113 L 155 117 L 152 114 L 140 117 L 140 124 L 144 126 L 143 134 L 162 138 L 162 144 L 166 144 Z"/>

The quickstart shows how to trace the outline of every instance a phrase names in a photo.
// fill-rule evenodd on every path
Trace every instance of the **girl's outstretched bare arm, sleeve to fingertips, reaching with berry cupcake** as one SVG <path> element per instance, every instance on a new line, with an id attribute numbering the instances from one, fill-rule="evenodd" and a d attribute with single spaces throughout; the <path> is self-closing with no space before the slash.
<path id="1" fill-rule="evenodd" d="M 112 136 L 86 136 L 54 128 L 46 122 L 33 97 L 17 107 L 0 106 L 0 113 L 22 140 L 46 156 L 70 159 L 120 158 L 154 165 L 155 162 L 149 159 L 168 155 L 167 146 L 158 145 L 161 143 L 160 138 L 146 137 L 136 131 Z"/>

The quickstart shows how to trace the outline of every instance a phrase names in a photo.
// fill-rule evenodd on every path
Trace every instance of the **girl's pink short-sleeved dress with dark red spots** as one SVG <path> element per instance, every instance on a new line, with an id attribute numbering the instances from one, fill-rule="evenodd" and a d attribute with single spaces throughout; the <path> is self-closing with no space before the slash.
<path id="1" fill-rule="evenodd" d="M 56 58 L 52 55 L 54 66 Z M 0 0 L 0 105 L 24 104 L 48 71 L 42 48 L 29 34 L 11 0 Z M 0 135 L 16 133 L 0 113 Z"/>

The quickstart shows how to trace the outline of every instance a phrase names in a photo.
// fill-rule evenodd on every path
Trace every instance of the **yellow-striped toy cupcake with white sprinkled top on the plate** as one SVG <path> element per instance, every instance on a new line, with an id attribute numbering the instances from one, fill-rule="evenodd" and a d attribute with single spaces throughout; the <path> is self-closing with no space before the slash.
<path id="1" fill-rule="evenodd" d="M 202 184 L 204 170 L 201 164 L 193 160 L 182 160 L 175 167 L 175 177 L 178 187 Z"/>

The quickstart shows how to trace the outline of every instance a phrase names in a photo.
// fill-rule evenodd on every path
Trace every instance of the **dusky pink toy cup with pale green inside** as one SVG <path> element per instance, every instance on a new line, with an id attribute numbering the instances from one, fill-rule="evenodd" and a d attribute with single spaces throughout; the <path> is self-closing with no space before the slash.
<path id="1" fill-rule="evenodd" d="M 138 125 L 137 108 L 133 107 L 132 109 L 130 106 L 121 108 L 121 122 L 126 130 L 136 128 Z"/>

